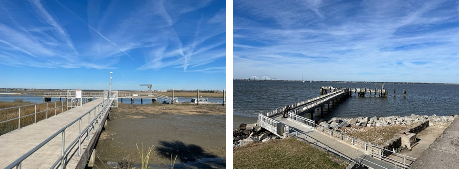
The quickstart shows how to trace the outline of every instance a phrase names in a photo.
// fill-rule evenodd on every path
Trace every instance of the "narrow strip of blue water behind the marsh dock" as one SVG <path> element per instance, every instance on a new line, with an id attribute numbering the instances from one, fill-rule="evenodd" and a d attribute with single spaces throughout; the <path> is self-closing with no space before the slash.
<path id="1" fill-rule="evenodd" d="M 179 102 L 190 102 L 191 98 L 185 98 L 185 97 L 177 97 L 179 99 Z M 207 97 L 206 97 L 207 98 Z M 32 103 L 42 103 L 43 102 L 43 97 L 37 97 L 34 95 L 0 95 L 0 101 L 8 101 L 12 102 L 15 99 L 22 99 L 23 101 L 28 101 Z M 216 98 L 216 97 L 208 97 L 209 102 L 218 102 L 218 103 L 223 103 L 223 96 L 222 98 Z M 56 101 L 59 100 L 59 98 L 51 98 L 51 101 Z M 163 100 L 163 99 L 158 99 L 158 101 L 163 102 L 167 101 L 170 102 L 170 100 Z M 118 102 L 121 103 L 121 99 L 118 99 Z M 123 99 L 123 103 L 131 103 L 131 99 Z M 231 102 L 229 102 L 231 104 Z M 140 99 L 135 99 L 134 104 L 141 104 Z M 143 99 L 143 104 L 151 104 L 151 99 Z"/>

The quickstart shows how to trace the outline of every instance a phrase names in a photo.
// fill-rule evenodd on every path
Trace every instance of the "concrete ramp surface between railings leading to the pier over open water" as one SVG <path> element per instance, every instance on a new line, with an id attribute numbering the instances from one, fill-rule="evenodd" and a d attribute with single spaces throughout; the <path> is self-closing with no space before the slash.
<path id="1" fill-rule="evenodd" d="M 352 159 L 355 159 L 357 158 L 357 149 L 356 148 L 353 148 L 351 146 L 348 146 L 344 143 L 340 143 L 339 141 L 336 141 L 332 138 L 328 138 L 327 136 L 323 135 L 322 133 L 318 133 L 316 132 L 314 129 L 310 128 L 310 127 L 305 127 L 304 125 L 301 125 L 300 123 L 298 122 L 295 122 L 293 120 L 288 120 L 288 118 L 281 118 L 281 117 L 277 117 L 275 118 L 275 120 L 281 122 L 281 123 L 284 123 L 288 126 L 291 126 L 291 127 L 294 127 L 294 128 L 297 128 L 299 130 L 301 130 L 302 132 L 305 132 L 308 137 L 312 137 L 320 142 L 322 142 L 323 144 L 327 145 L 328 147 L 331 147 L 333 149 L 335 149 L 336 151 L 339 151 L 340 153 L 352 158 Z M 295 134 L 294 131 L 290 131 L 290 133 Z M 298 134 L 298 137 L 300 138 L 304 138 L 305 135 L 303 134 Z"/>

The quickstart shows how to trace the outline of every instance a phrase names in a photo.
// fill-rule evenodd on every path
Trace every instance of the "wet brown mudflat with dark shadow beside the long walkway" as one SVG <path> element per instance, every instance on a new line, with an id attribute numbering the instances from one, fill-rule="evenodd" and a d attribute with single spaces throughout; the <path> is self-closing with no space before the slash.
<path id="1" fill-rule="evenodd" d="M 136 144 L 155 146 L 149 160 L 154 168 L 170 164 L 171 154 L 178 155 L 176 163 L 220 159 L 207 167 L 226 168 L 226 106 L 120 103 L 96 146 L 96 165 L 106 168 L 100 166 L 127 157 L 140 163 Z"/>

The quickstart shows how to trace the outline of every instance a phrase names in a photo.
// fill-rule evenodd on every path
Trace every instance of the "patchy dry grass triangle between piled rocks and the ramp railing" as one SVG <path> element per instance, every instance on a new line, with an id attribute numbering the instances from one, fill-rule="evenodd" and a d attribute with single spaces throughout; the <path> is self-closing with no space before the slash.
<path id="1" fill-rule="evenodd" d="M 393 126 L 372 126 L 372 127 L 356 127 L 358 132 L 347 133 L 350 136 L 360 138 L 362 140 L 382 145 L 386 141 L 391 140 L 398 131 L 402 131 L 413 127 L 414 125 L 393 125 Z M 341 130 L 346 130 L 347 127 Z"/>

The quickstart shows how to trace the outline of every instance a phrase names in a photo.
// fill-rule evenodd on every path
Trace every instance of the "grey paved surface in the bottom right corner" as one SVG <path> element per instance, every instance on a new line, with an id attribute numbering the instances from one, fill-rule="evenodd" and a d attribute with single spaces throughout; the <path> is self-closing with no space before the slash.
<path id="1" fill-rule="evenodd" d="M 410 169 L 458 169 L 459 118 L 445 129 Z"/>

